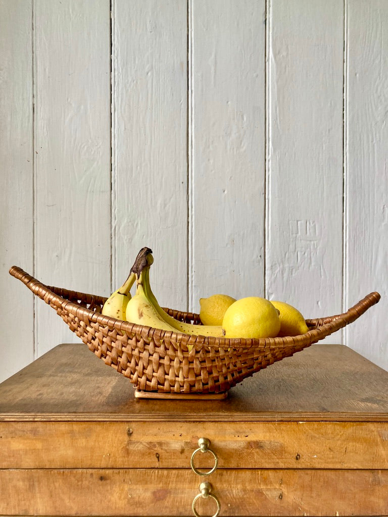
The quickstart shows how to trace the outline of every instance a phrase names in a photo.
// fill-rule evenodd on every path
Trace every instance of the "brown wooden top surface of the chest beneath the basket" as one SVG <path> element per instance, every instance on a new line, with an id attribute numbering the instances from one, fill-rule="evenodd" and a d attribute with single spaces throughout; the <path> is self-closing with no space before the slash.
<path id="1" fill-rule="evenodd" d="M 245 379 L 225 400 L 134 393 L 84 344 L 61 344 L 0 384 L 0 420 L 388 421 L 388 372 L 344 345 L 312 345 Z"/>

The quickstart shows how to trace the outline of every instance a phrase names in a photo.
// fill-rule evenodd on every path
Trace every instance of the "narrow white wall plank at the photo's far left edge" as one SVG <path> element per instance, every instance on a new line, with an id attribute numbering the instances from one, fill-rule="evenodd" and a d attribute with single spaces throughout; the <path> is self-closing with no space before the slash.
<path id="1" fill-rule="evenodd" d="M 34 306 L 13 265 L 33 270 L 32 1 L 0 2 L 0 382 L 34 357 Z"/>

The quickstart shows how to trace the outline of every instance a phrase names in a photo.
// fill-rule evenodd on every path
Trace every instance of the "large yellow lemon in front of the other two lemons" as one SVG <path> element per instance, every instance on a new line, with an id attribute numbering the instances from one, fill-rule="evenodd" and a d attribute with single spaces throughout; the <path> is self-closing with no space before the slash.
<path id="1" fill-rule="evenodd" d="M 249 296 L 232 303 L 222 328 L 226 338 L 275 338 L 280 330 L 279 314 L 270 301 Z"/>

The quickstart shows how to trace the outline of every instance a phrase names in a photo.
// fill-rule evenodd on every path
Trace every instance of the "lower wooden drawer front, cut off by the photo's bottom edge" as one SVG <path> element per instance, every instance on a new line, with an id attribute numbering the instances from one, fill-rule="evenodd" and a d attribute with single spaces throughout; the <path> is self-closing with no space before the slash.
<path id="1" fill-rule="evenodd" d="M 0 470 L 2 515 L 192 515 L 188 469 Z M 217 470 L 220 515 L 385 515 L 388 470 Z M 199 498 L 212 515 L 216 501 Z"/>

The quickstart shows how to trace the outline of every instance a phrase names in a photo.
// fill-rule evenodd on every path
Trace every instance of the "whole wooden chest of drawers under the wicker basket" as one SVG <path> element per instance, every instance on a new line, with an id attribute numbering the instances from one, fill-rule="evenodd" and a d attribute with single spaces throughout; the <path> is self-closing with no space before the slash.
<path id="1" fill-rule="evenodd" d="M 62 344 L 0 385 L 1 515 L 193 506 L 388 515 L 388 372 L 316 344 L 225 400 L 146 400 L 84 345 Z"/>

